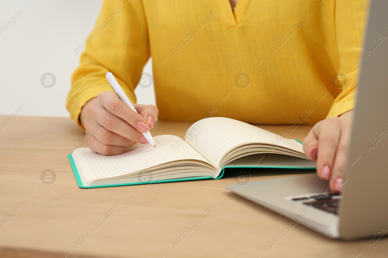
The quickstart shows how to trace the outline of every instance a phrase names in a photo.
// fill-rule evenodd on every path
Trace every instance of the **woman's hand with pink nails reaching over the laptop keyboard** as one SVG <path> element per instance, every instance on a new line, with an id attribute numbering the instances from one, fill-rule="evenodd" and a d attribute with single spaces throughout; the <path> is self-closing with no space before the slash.
<path id="1" fill-rule="evenodd" d="M 345 164 L 354 110 L 319 121 L 303 140 L 307 157 L 317 163 L 319 178 L 330 180 L 331 191 L 340 192 L 346 182 Z M 345 174 L 345 175 L 344 175 Z"/>

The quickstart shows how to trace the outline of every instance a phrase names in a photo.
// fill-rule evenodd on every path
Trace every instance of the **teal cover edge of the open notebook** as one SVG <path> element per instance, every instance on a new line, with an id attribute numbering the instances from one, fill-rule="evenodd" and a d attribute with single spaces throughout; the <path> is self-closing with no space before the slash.
<path id="1" fill-rule="evenodd" d="M 299 142 L 299 141 L 298 141 Z M 212 176 L 201 176 L 196 178 L 176 178 L 176 179 L 168 179 L 168 180 L 161 180 L 161 181 L 152 181 L 150 182 L 139 182 L 139 183 L 125 183 L 125 184 L 115 184 L 115 185 L 98 185 L 98 186 L 84 186 L 80 174 L 78 174 L 78 169 L 74 163 L 73 154 L 69 154 L 69 162 L 71 165 L 71 168 L 73 169 L 74 176 L 77 180 L 78 186 L 80 188 L 99 188 L 99 187 L 110 187 L 110 186 L 123 186 L 123 185 L 149 185 L 153 183 L 167 183 L 167 182 L 178 182 L 178 181 L 190 181 L 190 180 L 200 180 L 200 179 L 220 179 L 225 173 L 226 168 L 283 168 L 283 169 L 315 169 L 315 167 L 275 167 L 275 166 L 225 166 L 222 168 L 221 173 L 217 178 L 213 178 Z"/>

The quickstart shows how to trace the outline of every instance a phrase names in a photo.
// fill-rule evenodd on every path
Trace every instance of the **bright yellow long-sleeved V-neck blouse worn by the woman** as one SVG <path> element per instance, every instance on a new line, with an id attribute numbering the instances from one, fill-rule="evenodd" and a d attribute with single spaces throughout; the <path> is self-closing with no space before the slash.
<path id="1" fill-rule="evenodd" d="M 354 108 L 367 0 L 127 1 L 104 0 L 75 49 L 66 106 L 79 126 L 112 91 L 107 70 L 135 102 L 150 56 L 159 120 L 314 124 Z"/>

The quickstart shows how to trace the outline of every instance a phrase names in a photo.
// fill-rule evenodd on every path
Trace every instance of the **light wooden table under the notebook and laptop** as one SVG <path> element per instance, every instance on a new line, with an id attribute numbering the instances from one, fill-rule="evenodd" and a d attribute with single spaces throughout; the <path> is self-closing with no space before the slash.
<path id="1" fill-rule="evenodd" d="M 0 122 L 6 118 L 0 116 Z M 183 137 L 190 125 L 158 121 L 152 135 L 169 133 Z M 287 126 L 260 127 L 281 135 L 288 130 Z M 310 128 L 301 125 L 290 137 L 302 140 Z M 268 241 L 291 220 L 228 193 L 225 186 L 235 183 L 234 177 L 78 188 L 67 154 L 82 139 L 83 133 L 67 118 L 17 117 L 0 132 L 0 220 L 19 203 L 23 205 L 17 216 L 0 229 L 0 257 L 387 256 L 387 238 L 379 239 L 368 249 L 368 239 L 333 240 L 301 225 L 271 249 Z M 56 175 L 51 185 L 41 180 L 46 169 Z M 257 173 L 251 174 L 251 180 L 283 176 L 297 175 Z M 116 203 L 120 208 L 113 217 L 95 227 L 94 223 Z M 213 203 L 217 208 L 194 229 L 191 223 Z M 87 234 L 91 227 L 95 232 L 80 242 L 78 237 Z M 188 227 L 193 231 L 174 249 L 171 242 Z M 75 241 L 82 243 L 78 249 Z"/>

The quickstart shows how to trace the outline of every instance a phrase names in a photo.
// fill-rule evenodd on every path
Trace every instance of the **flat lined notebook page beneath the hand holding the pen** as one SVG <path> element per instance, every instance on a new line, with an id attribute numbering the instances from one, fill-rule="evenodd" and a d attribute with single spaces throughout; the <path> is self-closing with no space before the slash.
<path id="1" fill-rule="evenodd" d="M 151 144 L 135 144 L 129 147 L 129 152 L 112 156 L 101 155 L 89 148 L 79 148 L 73 154 L 80 157 L 83 175 L 87 180 L 136 173 L 171 161 L 196 159 L 209 163 L 178 136 L 159 135 L 153 138 L 156 148 Z"/>

